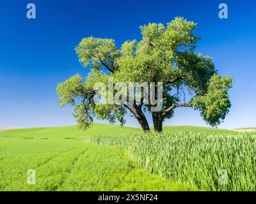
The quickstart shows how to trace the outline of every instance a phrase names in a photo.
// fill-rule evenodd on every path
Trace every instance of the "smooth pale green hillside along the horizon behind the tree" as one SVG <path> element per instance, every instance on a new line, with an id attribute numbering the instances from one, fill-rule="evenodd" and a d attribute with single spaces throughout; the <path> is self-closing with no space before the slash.
<path id="1" fill-rule="evenodd" d="M 154 129 L 151 127 L 151 129 Z M 3 129 L 4 130 L 4 129 Z M 142 132 L 141 128 L 131 128 L 111 124 L 93 124 L 86 131 L 81 131 L 77 126 L 45 127 L 45 128 L 20 128 L 5 129 L 0 133 L 0 137 L 20 137 L 20 138 L 84 138 L 87 136 L 111 136 L 122 135 L 134 131 Z M 196 133 L 238 133 L 228 129 L 205 128 L 198 126 L 164 126 L 163 132 L 188 131 Z"/>

